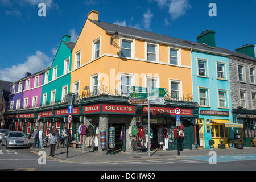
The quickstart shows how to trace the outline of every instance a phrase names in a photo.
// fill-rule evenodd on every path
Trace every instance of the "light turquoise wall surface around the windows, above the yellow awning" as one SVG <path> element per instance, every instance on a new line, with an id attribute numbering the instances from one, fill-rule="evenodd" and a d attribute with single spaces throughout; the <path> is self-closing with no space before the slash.
<path id="1" fill-rule="evenodd" d="M 200 77 L 197 75 L 198 68 L 197 68 L 197 60 L 202 59 L 207 61 L 207 77 Z M 225 64 L 225 73 L 224 73 L 224 80 L 217 79 L 217 64 L 216 61 Z M 229 78 L 229 59 L 228 57 L 218 56 L 218 55 L 211 55 L 209 53 L 204 52 L 197 52 L 192 51 L 192 78 L 193 78 L 193 96 L 194 101 L 199 101 L 199 87 L 208 88 L 208 107 L 200 106 L 199 108 L 199 118 L 204 119 L 204 146 L 205 148 L 210 148 L 209 140 L 212 139 L 212 134 L 207 133 L 205 129 L 205 120 L 206 119 L 225 119 L 233 122 L 232 118 L 232 105 L 231 105 L 231 96 L 230 96 L 230 78 Z M 218 106 L 218 89 L 227 90 L 227 103 L 228 107 L 226 109 L 222 109 Z M 212 115 L 200 115 L 201 110 L 211 110 L 211 111 L 228 111 L 229 117 L 223 116 L 212 116 Z M 210 126 L 211 127 L 211 126 Z M 233 138 L 233 129 L 229 129 L 229 136 Z M 216 139 L 215 141 L 220 143 Z M 227 141 L 224 141 L 224 143 Z M 217 146 L 217 143 L 216 143 Z"/>

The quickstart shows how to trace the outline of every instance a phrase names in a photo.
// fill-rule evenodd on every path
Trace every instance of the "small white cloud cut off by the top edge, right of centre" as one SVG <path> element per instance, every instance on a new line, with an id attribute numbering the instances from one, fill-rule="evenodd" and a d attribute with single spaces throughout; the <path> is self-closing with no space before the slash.
<path id="1" fill-rule="evenodd" d="M 171 0 L 169 5 L 169 14 L 173 20 L 179 18 L 182 15 L 186 14 L 188 9 L 191 9 L 189 0 Z"/>

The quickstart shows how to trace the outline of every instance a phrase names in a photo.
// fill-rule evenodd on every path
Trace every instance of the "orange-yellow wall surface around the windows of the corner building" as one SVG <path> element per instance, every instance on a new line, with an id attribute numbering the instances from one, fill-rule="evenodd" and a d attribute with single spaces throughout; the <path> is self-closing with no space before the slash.
<path id="1" fill-rule="evenodd" d="M 182 93 L 192 96 L 191 53 L 189 49 L 180 49 L 181 66 L 170 65 L 168 45 L 159 44 L 159 63 L 146 61 L 146 43 L 144 40 L 135 40 L 135 59 L 122 59 L 118 56 L 119 49 L 110 45 L 112 35 L 96 24 L 86 21 L 76 46 L 73 49 L 72 70 L 75 65 L 75 53 L 81 51 L 81 67 L 71 72 L 71 92 L 73 83 L 79 81 L 79 94 L 89 86 L 91 76 L 99 73 L 99 85 L 104 85 L 108 92 L 115 93 L 119 88 L 119 73 L 135 75 L 135 86 L 146 86 L 146 76 L 159 77 L 161 88 L 170 90 L 170 81 L 182 81 Z M 92 60 L 93 41 L 100 38 L 100 58 Z M 120 40 L 121 41 L 121 40 Z M 116 41 L 119 46 L 119 41 Z"/>

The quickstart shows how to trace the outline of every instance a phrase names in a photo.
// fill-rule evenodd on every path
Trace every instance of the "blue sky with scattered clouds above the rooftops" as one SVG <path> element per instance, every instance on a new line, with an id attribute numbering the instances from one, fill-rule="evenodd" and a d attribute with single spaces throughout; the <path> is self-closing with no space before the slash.
<path id="1" fill-rule="evenodd" d="M 38 4 L 46 4 L 46 17 Z M 210 3 L 217 17 L 210 17 Z M 47 68 L 64 34 L 75 41 L 87 14 L 99 20 L 196 42 L 201 31 L 216 31 L 216 46 L 256 44 L 256 0 L 0 0 L 0 80 L 15 81 Z"/>

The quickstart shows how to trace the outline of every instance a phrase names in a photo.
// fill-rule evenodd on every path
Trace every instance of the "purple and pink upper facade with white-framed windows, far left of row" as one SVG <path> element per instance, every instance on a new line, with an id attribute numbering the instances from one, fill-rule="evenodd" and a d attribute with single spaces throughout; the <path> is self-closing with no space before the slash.
<path id="1" fill-rule="evenodd" d="M 21 110 L 40 107 L 43 71 L 25 77 L 11 84 L 8 110 Z"/>

